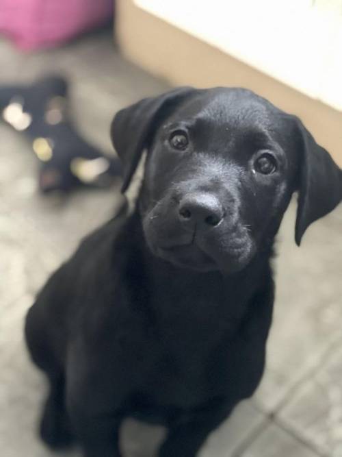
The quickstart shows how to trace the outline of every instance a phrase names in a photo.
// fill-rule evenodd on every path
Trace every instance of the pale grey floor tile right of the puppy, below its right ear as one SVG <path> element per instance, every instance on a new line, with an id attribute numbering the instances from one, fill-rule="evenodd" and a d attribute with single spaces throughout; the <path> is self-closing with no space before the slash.
<path id="1" fill-rule="evenodd" d="M 276 303 L 267 342 L 267 370 L 256 395 L 274 410 L 341 334 L 342 207 L 294 243 L 295 201 L 280 230 L 275 260 Z"/>

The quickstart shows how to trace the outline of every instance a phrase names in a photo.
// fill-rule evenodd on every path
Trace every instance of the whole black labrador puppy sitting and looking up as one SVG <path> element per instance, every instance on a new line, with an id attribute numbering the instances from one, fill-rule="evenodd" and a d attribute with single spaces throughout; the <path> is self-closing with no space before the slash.
<path id="1" fill-rule="evenodd" d="M 49 378 L 53 447 L 118 457 L 122 419 L 161 421 L 159 457 L 194 457 L 257 388 L 272 321 L 270 258 L 293 191 L 295 241 L 342 197 L 342 171 L 302 123 L 249 90 L 180 88 L 116 114 L 135 210 L 84 239 L 29 310 Z"/>

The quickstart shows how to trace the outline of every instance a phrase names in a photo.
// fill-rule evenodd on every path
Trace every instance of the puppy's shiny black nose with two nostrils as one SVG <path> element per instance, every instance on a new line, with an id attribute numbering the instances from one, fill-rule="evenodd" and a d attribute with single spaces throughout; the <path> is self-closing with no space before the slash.
<path id="1" fill-rule="evenodd" d="M 179 219 L 197 229 L 215 227 L 223 218 L 223 208 L 215 195 L 198 193 L 186 195 L 179 203 Z"/>

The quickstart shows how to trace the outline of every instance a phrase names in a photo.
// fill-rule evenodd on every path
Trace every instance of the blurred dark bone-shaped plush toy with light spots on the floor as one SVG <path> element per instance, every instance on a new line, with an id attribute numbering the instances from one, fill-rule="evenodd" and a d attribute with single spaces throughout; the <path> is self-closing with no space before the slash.
<path id="1" fill-rule="evenodd" d="M 62 77 L 0 88 L 1 118 L 29 138 L 40 161 L 39 188 L 43 193 L 80 185 L 108 186 L 120 175 L 118 160 L 81 138 L 67 108 L 68 84 Z"/>

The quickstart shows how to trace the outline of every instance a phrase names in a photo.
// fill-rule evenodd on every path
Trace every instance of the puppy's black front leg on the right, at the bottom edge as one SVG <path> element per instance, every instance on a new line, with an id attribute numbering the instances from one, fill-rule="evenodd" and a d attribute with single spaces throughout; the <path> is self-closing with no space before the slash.
<path id="1" fill-rule="evenodd" d="M 220 399 L 207 408 L 193 412 L 186 419 L 171 424 L 158 456 L 195 457 L 207 436 L 231 414 L 234 406 Z"/>

